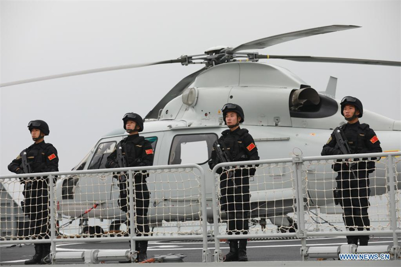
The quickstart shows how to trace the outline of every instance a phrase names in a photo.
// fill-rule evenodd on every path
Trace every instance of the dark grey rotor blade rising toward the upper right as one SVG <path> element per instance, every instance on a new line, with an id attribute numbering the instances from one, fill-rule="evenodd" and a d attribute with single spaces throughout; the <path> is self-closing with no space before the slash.
<path id="1" fill-rule="evenodd" d="M 277 44 L 281 44 L 284 42 L 288 42 L 288 41 L 292 41 L 292 40 L 296 40 L 296 39 L 300 39 L 300 38 L 304 38 L 304 37 L 309 37 L 309 36 L 314 36 L 314 35 L 319 35 L 319 34 L 327 34 L 327 33 L 344 31 L 344 30 L 350 30 L 350 29 L 355 29 L 355 28 L 360 28 L 360 26 L 331 25 L 331 26 L 312 28 L 312 29 L 287 33 L 287 34 L 280 34 L 280 35 L 266 37 L 266 38 L 262 38 L 259 40 L 255 40 L 255 41 L 252 41 L 249 43 L 239 45 L 236 48 L 230 49 L 229 51 L 227 51 L 227 53 L 234 54 L 235 52 L 242 51 L 242 50 L 263 49 L 263 48 L 271 47 L 271 46 L 274 46 Z"/>

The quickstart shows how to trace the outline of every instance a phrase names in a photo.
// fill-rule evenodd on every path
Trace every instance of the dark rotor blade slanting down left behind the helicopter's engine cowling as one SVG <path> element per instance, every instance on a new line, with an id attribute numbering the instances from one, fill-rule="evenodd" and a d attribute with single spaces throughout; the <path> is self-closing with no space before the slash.
<path id="1" fill-rule="evenodd" d="M 179 83 L 177 83 L 168 93 L 159 101 L 159 103 L 154 106 L 154 108 L 149 111 L 149 113 L 145 116 L 145 119 L 157 119 L 159 116 L 160 109 L 164 108 L 164 106 L 170 102 L 175 97 L 182 94 L 182 92 L 195 80 L 195 78 L 202 73 L 206 67 L 186 76 Z"/>

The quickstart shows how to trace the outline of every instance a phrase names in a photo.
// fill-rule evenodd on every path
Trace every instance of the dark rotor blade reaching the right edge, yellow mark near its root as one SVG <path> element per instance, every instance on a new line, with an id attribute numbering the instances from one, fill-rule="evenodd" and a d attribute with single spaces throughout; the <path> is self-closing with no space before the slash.
<path id="1" fill-rule="evenodd" d="M 347 63 L 347 64 L 365 64 L 401 67 L 399 61 L 369 60 L 369 59 L 349 59 L 349 58 L 327 58 L 310 56 L 274 56 L 274 55 L 256 55 L 257 59 L 284 59 L 299 62 L 321 62 L 321 63 Z"/>

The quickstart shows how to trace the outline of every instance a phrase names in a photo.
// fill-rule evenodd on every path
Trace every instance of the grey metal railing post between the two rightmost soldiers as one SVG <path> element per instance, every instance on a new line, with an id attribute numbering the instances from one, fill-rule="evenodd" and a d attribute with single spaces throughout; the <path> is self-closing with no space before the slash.
<path id="1" fill-rule="evenodd" d="M 302 188 L 302 163 L 301 156 L 293 156 L 293 166 L 295 167 L 295 197 L 296 209 L 298 216 L 298 237 L 301 239 L 301 255 L 302 260 L 306 259 L 306 230 L 305 230 L 305 216 L 304 216 L 304 198 Z"/>

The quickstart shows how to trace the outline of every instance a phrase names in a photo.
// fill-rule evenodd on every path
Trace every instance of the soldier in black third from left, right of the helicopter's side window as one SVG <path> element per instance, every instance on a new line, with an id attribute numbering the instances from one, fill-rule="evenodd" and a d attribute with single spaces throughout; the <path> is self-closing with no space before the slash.
<path id="1" fill-rule="evenodd" d="M 244 122 L 244 111 L 239 105 L 228 103 L 223 106 L 223 119 L 228 130 L 222 132 L 218 142 L 227 152 L 231 161 L 258 160 L 258 149 L 255 141 L 247 129 L 241 129 L 240 123 Z M 212 150 L 212 158 L 209 167 L 213 169 L 221 163 L 215 149 Z M 239 166 L 232 174 L 220 168 L 217 172 L 220 176 L 221 206 L 227 211 L 227 232 L 232 234 L 248 234 L 248 214 L 251 209 L 249 193 L 249 177 L 255 174 L 255 168 Z M 223 173 L 222 173 L 223 172 Z M 230 239 L 230 252 L 224 261 L 248 261 L 247 238 Z"/>

